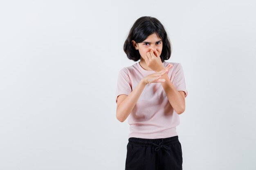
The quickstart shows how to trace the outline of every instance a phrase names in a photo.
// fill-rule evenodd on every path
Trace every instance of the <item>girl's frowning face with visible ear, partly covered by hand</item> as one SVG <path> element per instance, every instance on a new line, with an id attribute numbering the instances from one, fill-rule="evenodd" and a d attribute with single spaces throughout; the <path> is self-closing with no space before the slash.
<path id="1" fill-rule="evenodd" d="M 157 50 L 159 56 L 161 55 L 163 49 L 163 42 L 156 33 L 149 35 L 146 40 L 140 43 L 136 43 L 134 40 L 132 40 L 132 44 L 136 50 L 139 50 L 141 60 L 145 60 L 147 52 L 150 52 L 151 49 L 153 51 Z"/>

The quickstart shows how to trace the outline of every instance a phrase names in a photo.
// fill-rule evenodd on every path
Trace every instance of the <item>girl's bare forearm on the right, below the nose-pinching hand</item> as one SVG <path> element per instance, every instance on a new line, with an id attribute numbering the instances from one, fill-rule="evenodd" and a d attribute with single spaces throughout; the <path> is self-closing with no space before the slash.
<path id="1" fill-rule="evenodd" d="M 167 74 L 164 74 L 162 76 L 163 79 L 165 79 L 164 83 L 161 83 L 164 91 L 166 93 L 166 96 L 175 110 L 177 114 L 181 114 L 185 110 L 185 101 L 181 94 L 177 91 L 177 89 L 173 86 L 171 80 L 169 79 Z"/>

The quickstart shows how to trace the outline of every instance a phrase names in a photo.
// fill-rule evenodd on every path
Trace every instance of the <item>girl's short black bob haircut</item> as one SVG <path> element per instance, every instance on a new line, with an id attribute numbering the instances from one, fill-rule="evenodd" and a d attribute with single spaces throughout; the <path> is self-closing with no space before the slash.
<path id="1" fill-rule="evenodd" d="M 143 16 L 135 21 L 124 42 L 124 52 L 130 60 L 135 62 L 140 60 L 139 50 L 134 48 L 132 40 L 140 43 L 153 33 L 156 33 L 163 42 L 163 49 L 160 55 L 161 61 L 164 62 L 164 60 L 168 60 L 171 57 L 172 45 L 162 23 L 156 18 Z"/>

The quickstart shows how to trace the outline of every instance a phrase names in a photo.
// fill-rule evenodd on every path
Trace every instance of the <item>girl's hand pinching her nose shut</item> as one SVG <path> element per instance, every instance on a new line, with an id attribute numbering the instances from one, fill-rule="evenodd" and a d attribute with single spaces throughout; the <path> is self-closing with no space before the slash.
<path id="1" fill-rule="evenodd" d="M 147 66 L 153 71 L 159 71 L 164 68 L 159 52 L 157 50 L 153 51 L 151 49 L 150 52 L 147 52 L 147 55 L 145 56 L 145 62 Z"/>

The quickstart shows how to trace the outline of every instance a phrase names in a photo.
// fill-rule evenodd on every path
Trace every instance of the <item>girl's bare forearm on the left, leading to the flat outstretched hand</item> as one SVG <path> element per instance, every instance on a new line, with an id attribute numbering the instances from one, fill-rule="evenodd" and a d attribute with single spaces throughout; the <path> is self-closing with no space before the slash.
<path id="1" fill-rule="evenodd" d="M 143 79 L 141 79 L 136 88 L 124 99 L 124 101 L 120 103 L 119 107 L 117 108 L 117 119 L 119 121 L 125 121 L 130 115 L 145 86 L 146 83 L 143 81 Z"/>

